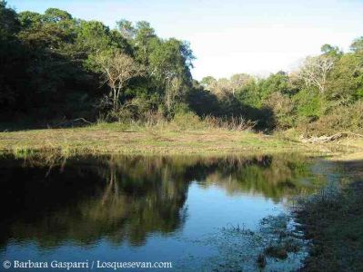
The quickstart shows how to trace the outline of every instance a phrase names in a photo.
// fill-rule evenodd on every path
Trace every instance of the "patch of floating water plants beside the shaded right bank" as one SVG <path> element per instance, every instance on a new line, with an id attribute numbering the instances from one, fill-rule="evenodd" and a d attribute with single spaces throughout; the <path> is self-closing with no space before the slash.
<path id="1" fill-rule="evenodd" d="M 217 248 L 213 257 L 190 256 L 183 263 L 206 271 L 295 271 L 308 256 L 308 241 L 297 227 L 287 213 L 262 219 L 256 230 L 228 225 L 194 241 Z"/>

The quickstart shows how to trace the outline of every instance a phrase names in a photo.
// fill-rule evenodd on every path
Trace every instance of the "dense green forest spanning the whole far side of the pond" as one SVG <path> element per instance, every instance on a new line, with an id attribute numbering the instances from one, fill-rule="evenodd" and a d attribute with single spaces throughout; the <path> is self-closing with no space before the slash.
<path id="1" fill-rule="evenodd" d="M 267 78 L 237 73 L 197 82 L 194 58 L 187 42 L 162 39 L 147 22 L 120 20 L 110 29 L 56 8 L 16 13 L 0 1 L 1 121 L 41 126 L 179 115 L 251 121 L 258 131 L 363 128 L 363 37 L 346 53 L 325 44 L 296 72 Z"/>

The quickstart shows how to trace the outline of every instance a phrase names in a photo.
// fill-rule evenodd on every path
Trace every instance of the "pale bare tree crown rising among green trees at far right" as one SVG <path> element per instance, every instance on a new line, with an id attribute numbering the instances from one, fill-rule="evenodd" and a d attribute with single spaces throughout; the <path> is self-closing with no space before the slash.
<path id="1" fill-rule="evenodd" d="M 318 87 L 319 92 L 326 91 L 327 77 L 334 61 L 328 56 L 308 57 L 298 73 L 298 77 L 309 86 Z"/>

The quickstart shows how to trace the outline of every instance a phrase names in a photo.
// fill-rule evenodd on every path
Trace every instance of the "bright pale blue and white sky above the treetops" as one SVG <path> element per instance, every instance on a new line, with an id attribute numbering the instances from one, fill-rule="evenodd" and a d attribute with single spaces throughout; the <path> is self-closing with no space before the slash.
<path id="1" fill-rule="evenodd" d="M 146 20 L 164 38 L 189 41 L 201 79 L 290 71 L 322 44 L 348 50 L 363 35 L 363 0 L 8 0 L 20 12 L 57 7 L 113 27 Z"/>

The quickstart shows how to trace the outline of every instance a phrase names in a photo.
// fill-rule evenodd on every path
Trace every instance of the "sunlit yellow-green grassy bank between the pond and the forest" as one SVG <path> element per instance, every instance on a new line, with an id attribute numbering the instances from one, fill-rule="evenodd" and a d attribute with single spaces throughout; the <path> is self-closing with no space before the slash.
<path id="1" fill-rule="evenodd" d="M 27 153 L 57 151 L 63 154 L 227 154 L 273 151 L 345 149 L 345 145 L 304 144 L 283 135 L 264 135 L 224 128 L 168 124 L 138 126 L 99 123 L 83 128 L 0 132 L 0 151 Z"/>

